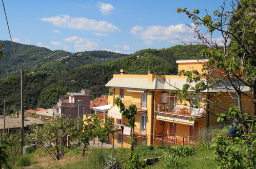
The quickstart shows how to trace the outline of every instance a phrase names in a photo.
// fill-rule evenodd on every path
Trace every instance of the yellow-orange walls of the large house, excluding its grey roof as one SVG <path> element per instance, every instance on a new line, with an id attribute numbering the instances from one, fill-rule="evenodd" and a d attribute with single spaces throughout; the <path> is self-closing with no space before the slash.
<path id="1" fill-rule="evenodd" d="M 181 62 L 178 64 L 178 70 L 198 70 L 202 73 L 203 64 L 205 62 Z M 118 74 L 113 75 L 113 78 L 131 78 L 131 79 L 144 79 L 148 82 L 154 81 L 154 79 L 186 79 L 185 76 L 178 75 L 154 75 L 152 73 L 147 75 L 127 75 L 127 74 Z M 203 100 L 199 100 L 199 103 L 204 106 L 203 111 L 201 109 L 192 109 L 191 105 L 188 101 L 184 100 L 182 104 L 173 104 L 172 98 L 175 95 L 171 95 L 168 90 L 150 90 L 144 89 L 143 86 L 140 88 L 140 91 L 143 93 L 147 93 L 147 102 L 146 109 L 141 109 L 142 103 L 142 92 L 131 91 L 132 88 L 129 87 L 110 87 L 110 91 L 113 92 L 112 96 L 109 96 L 108 103 L 114 104 L 114 99 L 120 97 L 120 89 L 124 90 L 124 98 L 123 102 L 128 108 L 129 104 L 135 104 L 137 107 L 137 114 L 135 116 L 135 134 L 138 134 L 140 141 L 143 139 L 146 140 L 146 144 L 150 145 L 153 143 L 154 139 L 157 136 L 168 136 L 169 139 L 172 137 L 170 135 L 175 135 L 175 138 L 183 138 L 195 134 L 202 134 L 205 132 L 205 129 L 218 125 L 220 123 L 216 122 L 216 116 L 212 115 L 209 112 L 214 114 L 222 113 L 223 110 L 219 107 L 208 107 L 205 105 L 206 102 Z M 167 102 L 163 101 L 163 93 L 167 93 L 165 97 L 167 97 Z M 208 98 L 210 100 L 220 100 L 218 103 L 224 107 L 229 108 L 231 104 L 233 104 L 233 99 L 230 97 L 228 93 L 224 93 L 221 96 L 217 96 L 216 93 L 202 93 L 202 96 Z M 242 96 L 244 99 L 246 96 Z M 173 105 L 172 105 L 173 104 Z M 250 100 L 243 101 L 243 109 L 245 112 L 252 112 L 252 102 Z M 194 115 L 193 113 L 198 113 Z M 165 119 L 161 119 L 160 115 L 165 115 Z M 145 137 L 141 137 L 140 132 L 142 131 L 142 116 L 146 116 L 146 133 L 144 133 Z M 168 117 L 167 117 L 168 116 Z M 115 119 L 117 123 L 117 119 Z M 127 123 L 128 120 L 123 117 L 123 124 Z M 112 142 L 114 145 L 121 147 L 130 147 L 129 136 L 124 135 L 125 139 L 120 143 L 117 141 L 117 135 L 112 138 Z M 188 138 L 186 138 L 188 139 Z M 184 140 L 183 140 L 184 143 Z"/>

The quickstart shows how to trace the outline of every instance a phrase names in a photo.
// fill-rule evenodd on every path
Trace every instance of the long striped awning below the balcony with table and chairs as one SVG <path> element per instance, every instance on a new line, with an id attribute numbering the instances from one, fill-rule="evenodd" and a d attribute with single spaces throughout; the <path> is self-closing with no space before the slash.
<path id="1" fill-rule="evenodd" d="M 166 114 L 166 115 L 156 114 L 156 120 L 163 120 L 163 121 L 181 123 L 186 125 L 194 125 L 194 120 L 189 120 L 188 118 L 184 118 L 184 117 L 172 116 L 169 114 Z"/>

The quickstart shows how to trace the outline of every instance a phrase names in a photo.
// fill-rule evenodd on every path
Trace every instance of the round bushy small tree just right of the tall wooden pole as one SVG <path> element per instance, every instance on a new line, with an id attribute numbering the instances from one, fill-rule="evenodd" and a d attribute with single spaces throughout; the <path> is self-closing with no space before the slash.
<path id="1" fill-rule="evenodd" d="M 28 139 L 41 144 L 54 160 L 63 159 L 68 146 L 67 137 L 72 138 L 76 131 L 76 125 L 69 125 L 70 123 L 71 119 L 66 116 L 55 116 L 42 127 L 35 129 L 34 133 L 28 135 Z"/>

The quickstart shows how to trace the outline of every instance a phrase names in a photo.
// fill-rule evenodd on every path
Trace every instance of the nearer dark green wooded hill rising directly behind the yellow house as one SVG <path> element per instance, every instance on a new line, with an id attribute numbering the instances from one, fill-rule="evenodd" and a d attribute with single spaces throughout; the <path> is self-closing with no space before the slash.
<path id="1" fill-rule="evenodd" d="M 25 109 L 36 107 L 52 108 L 56 101 L 64 98 L 67 92 L 78 92 L 81 89 L 91 91 L 92 98 L 107 94 L 105 84 L 119 74 L 120 69 L 126 69 L 128 74 L 146 74 L 152 70 L 155 74 L 175 74 L 176 59 L 199 58 L 198 46 L 174 46 L 168 49 L 146 49 L 135 52 L 132 56 L 114 60 L 105 64 L 91 64 L 66 72 L 26 72 L 24 80 Z M 178 52 L 180 51 L 180 52 Z M 183 54 L 189 52 L 190 54 Z M 0 61 L 1 62 L 1 61 Z M 2 100 L 9 100 L 7 105 L 19 109 L 20 77 L 10 76 L 0 81 Z M 0 103 L 0 112 L 3 108 Z"/>

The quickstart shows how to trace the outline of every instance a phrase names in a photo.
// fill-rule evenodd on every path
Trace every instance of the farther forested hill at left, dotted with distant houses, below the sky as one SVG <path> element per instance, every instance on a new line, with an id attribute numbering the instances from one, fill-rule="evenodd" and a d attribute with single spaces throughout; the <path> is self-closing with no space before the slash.
<path id="1" fill-rule="evenodd" d="M 121 59 L 127 54 L 108 51 L 86 51 L 70 53 L 32 45 L 13 43 L 5 40 L 3 52 L 5 57 L 0 61 L 0 78 L 15 74 L 20 68 L 27 72 L 45 71 L 49 73 L 64 72 L 87 64 L 103 64 Z"/>

